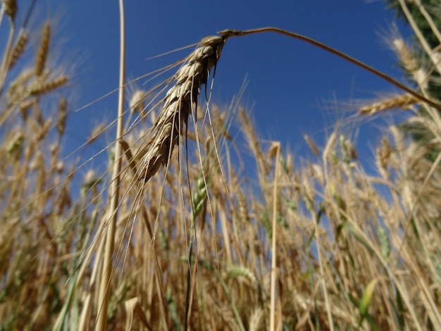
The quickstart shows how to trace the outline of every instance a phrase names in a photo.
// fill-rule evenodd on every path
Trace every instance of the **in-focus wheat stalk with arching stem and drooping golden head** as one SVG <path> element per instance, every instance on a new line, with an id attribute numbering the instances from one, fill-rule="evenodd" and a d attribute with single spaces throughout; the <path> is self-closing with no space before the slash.
<path id="1" fill-rule="evenodd" d="M 286 30 L 278 29 L 276 27 L 262 27 L 254 30 L 223 30 L 218 32 L 218 36 L 205 37 L 199 42 L 198 46 L 190 56 L 185 59 L 185 64 L 173 76 L 175 85 L 171 87 L 164 99 L 163 110 L 151 129 L 151 139 L 147 146 L 139 152 L 138 158 L 142 160 L 142 170 L 139 173 L 139 180 L 144 179 L 146 182 L 153 176 L 161 167 L 161 165 L 168 165 L 175 144 L 179 142 L 179 135 L 182 131 L 184 123 L 187 125 L 188 116 L 192 109 L 196 109 L 197 98 L 202 85 L 206 85 L 209 72 L 211 68 L 216 66 L 217 61 L 221 56 L 223 45 L 229 37 L 242 37 L 246 35 L 254 35 L 263 32 L 274 32 L 280 35 L 285 35 L 294 39 L 302 40 L 317 46 L 325 51 L 330 52 L 345 61 L 354 63 L 364 70 L 377 75 L 378 77 L 390 82 L 392 85 L 399 87 L 404 92 L 410 94 L 415 99 L 421 100 L 426 104 L 433 106 L 438 111 L 441 111 L 441 106 L 435 101 L 427 99 L 425 96 L 414 92 L 409 87 L 402 85 L 393 78 L 381 73 L 361 61 L 344 54 L 337 49 L 317 42 L 314 39 L 299 35 Z"/>

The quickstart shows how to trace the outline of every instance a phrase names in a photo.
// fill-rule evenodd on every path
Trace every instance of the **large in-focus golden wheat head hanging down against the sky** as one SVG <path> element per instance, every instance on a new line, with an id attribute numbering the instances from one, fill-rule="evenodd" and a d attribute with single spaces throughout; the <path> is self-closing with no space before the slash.
<path id="1" fill-rule="evenodd" d="M 225 40 L 222 36 L 202 39 L 175 73 L 175 85 L 168 90 L 163 109 L 151 129 L 147 152 L 144 154 L 145 149 L 140 152 L 143 168 L 139 179 L 149 180 L 161 165 L 168 164 L 175 144 L 179 143 L 184 123 L 187 125 L 190 111 L 196 109 L 201 86 L 206 84 L 209 71 L 221 56 Z"/>

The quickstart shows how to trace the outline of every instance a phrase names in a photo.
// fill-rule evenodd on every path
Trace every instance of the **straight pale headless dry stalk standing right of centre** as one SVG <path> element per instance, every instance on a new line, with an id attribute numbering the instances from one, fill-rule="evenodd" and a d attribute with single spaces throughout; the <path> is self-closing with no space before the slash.
<path id="1" fill-rule="evenodd" d="M 277 152 L 275 154 L 274 169 L 274 189 L 273 189 L 273 237 L 271 242 L 271 311 L 270 311 L 270 330 L 275 330 L 275 283 L 277 280 L 277 196 L 278 196 L 278 173 L 279 173 L 279 154 L 280 143 L 276 144 Z"/>

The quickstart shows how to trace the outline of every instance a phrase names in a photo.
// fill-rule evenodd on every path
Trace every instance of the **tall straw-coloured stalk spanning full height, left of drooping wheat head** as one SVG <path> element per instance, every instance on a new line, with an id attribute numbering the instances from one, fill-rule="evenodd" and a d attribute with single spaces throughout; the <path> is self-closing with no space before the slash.
<path id="1" fill-rule="evenodd" d="M 121 151 L 120 139 L 123 137 L 123 113 L 124 113 L 124 82 L 125 82 L 125 22 L 124 22 L 124 1 L 119 0 L 120 6 L 120 88 L 118 93 L 118 121 L 116 123 L 116 144 L 115 144 L 115 163 L 113 164 L 113 175 L 111 182 L 111 204 L 108 215 L 106 248 L 104 252 L 104 268 L 102 270 L 101 282 L 99 285 L 99 306 L 97 330 L 106 330 L 107 308 L 110 294 L 110 283 L 112 274 L 112 257 L 115 246 L 116 220 L 118 217 L 118 200 L 121 171 Z M 106 220 L 104 219 L 104 222 Z"/>

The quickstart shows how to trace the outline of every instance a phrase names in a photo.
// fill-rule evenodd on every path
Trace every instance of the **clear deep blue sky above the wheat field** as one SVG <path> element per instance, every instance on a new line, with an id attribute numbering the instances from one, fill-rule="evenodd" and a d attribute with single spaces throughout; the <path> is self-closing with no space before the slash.
<path id="1" fill-rule="evenodd" d="M 118 1 L 76 0 L 54 4 L 42 0 L 40 4 L 48 8 L 42 11 L 43 16 L 61 13 L 59 35 L 67 37 L 64 46 L 77 54 L 79 65 L 74 81 L 79 89 L 75 106 L 115 89 L 119 61 Z M 151 56 L 198 42 L 219 30 L 265 26 L 312 37 L 399 80 L 403 77 L 395 57 L 379 37 L 379 32 L 387 30 L 395 20 L 395 13 L 387 10 L 384 1 L 132 0 L 125 1 L 125 17 L 127 73 L 132 78 L 177 58 L 145 60 Z M 181 52 L 178 58 L 188 52 Z M 228 41 L 216 71 L 214 101 L 228 104 L 245 77 L 249 85 L 243 102 L 253 106 L 261 137 L 278 139 L 291 148 L 304 145 L 305 133 L 323 144 L 323 129 L 336 118 L 347 115 L 325 110 L 326 101 L 337 99 L 344 104 L 351 99 L 371 98 L 376 92 L 397 90 L 321 49 L 272 34 Z M 101 115 L 107 120 L 112 118 L 115 108 L 116 96 L 111 96 L 72 114 L 70 120 L 95 124 Z M 82 128 L 87 135 L 86 127 L 80 125 L 73 135 L 81 135 Z M 366 149 L 368 138 L 372 138 L 371 145 L 378 142 L 378 136 L 371 132 L 371 129 L 361 132 L 361 149 Z"/>

